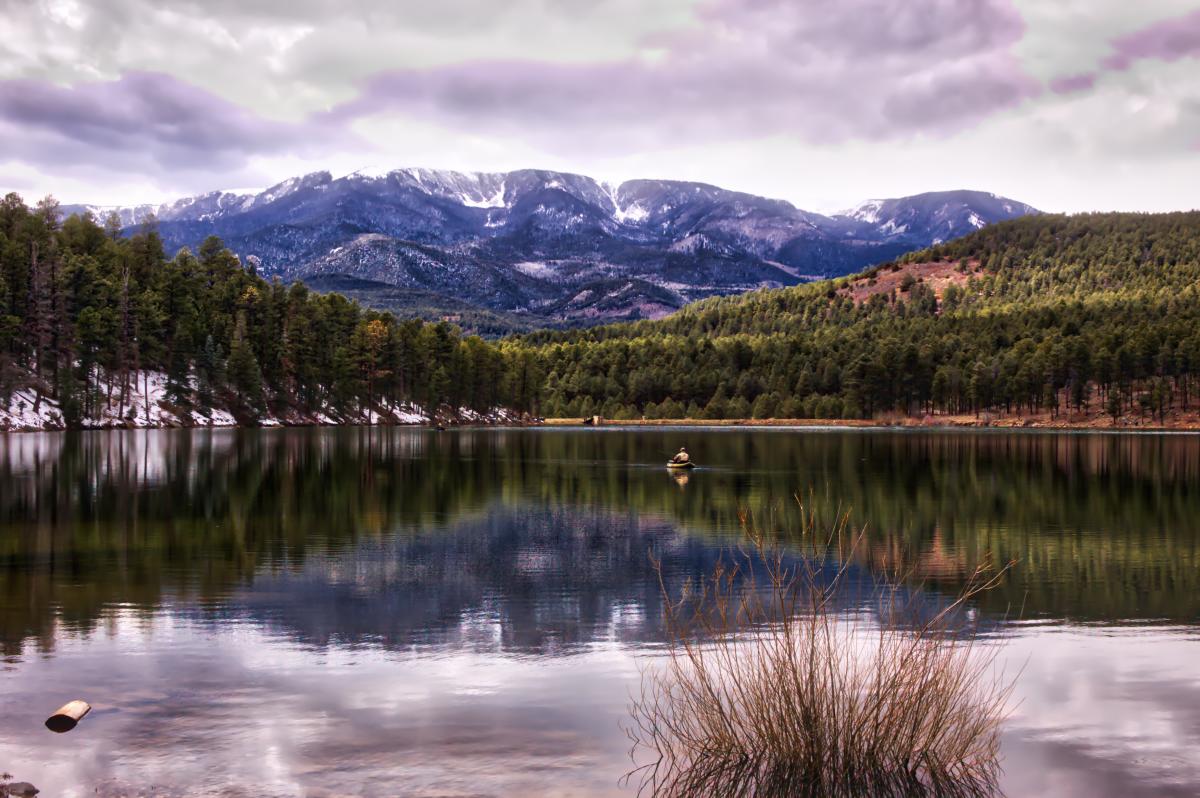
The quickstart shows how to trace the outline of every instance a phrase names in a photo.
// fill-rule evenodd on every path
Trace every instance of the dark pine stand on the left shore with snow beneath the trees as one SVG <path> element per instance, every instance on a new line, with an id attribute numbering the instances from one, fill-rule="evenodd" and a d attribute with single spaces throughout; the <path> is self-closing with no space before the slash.
<path id="1" fill-rule="evenodd" d="M 53 199 L 0 202 L 2 426 L 470 416 L 533 403 L 529 354 L 266 282 L 217 239 L 173 258 Z M 0 419 L 4 421 L 4 419 Z"/>

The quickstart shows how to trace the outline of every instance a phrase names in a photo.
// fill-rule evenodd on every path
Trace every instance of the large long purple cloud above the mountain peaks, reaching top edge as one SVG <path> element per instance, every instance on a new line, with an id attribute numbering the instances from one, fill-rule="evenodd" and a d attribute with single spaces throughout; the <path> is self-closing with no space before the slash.
<path id="1" fill-rule="evenodd" d="M 1006 0 L 713 0 L 653 59 L 490 61 L 377 74 L 330 112 L 400 110 L 552 149 L 714 138 L 883 139 L 966 127 L 1040 91 Z"/>

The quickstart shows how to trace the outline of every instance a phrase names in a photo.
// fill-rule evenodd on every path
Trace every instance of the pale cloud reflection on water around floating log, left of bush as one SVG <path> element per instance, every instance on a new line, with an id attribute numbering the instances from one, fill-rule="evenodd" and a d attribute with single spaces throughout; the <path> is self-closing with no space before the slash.
<path id="1" fill-rule="evenodd" d="M 624 794 L 618 721 L 636 679 L 616 646 L 530 667 L 314 652 L 251 624 L 124 611 L 7 677 L 0 760 L 52 796 Z M 91 698 L 89 725 L 20 733 L 59 692 Z"/>

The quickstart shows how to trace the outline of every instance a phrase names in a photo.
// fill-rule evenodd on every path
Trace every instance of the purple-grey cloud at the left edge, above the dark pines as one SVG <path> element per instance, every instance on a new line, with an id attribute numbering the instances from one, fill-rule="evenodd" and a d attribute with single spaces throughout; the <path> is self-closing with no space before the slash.
<path id="1" fill-rule="evenodd" d="M 146 72 L 76 86 L 2 80 L 0 130 L 7 154 L 25 161 L 151 174 L 236 169 L 253 155 L 302 151 L 337 136 L 319 126 L 266 120 L 203 89 Z"/>

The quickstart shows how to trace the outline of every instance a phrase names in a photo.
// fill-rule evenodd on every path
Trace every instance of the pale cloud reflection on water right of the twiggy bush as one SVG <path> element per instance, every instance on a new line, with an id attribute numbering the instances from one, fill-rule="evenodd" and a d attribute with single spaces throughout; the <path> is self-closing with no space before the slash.
<path id="1" fill-rule="evenodd" d="M 1194 629 L 1036 628 L 1002 743 L 1013 796 L 1195 796 L 1200 683 Z"/>

